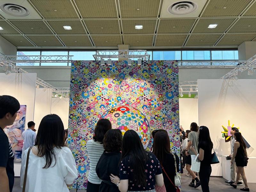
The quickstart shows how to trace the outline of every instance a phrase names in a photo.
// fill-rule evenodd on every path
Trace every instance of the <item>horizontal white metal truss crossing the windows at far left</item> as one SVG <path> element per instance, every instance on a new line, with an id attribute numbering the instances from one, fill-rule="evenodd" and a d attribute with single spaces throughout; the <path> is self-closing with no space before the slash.
<path id="1" fill-rule="evenodd" d="M 3 55 L 0 62 L 12 63 L 63 63 L 71 62 L 73 55 Z"/>

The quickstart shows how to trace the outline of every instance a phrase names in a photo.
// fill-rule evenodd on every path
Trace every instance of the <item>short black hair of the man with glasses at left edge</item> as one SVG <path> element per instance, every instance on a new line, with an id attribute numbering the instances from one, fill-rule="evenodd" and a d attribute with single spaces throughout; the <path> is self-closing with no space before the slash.
<path id="1" fill-rule="evenodd" d="M 0 119 L 2 119 L 7 113 L 14 116 L 19 109 L 20 103 L 16 98 L 10 95 L 0 96 Z"/>

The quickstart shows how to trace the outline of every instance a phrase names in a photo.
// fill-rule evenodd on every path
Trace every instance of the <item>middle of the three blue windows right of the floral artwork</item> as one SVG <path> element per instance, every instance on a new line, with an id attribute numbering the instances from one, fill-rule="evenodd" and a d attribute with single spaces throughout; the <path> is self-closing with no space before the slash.
<path id="1" fill-rule="evenodd" d="M 182 51 L 182 60 L 211 60 L 210 51 Z"/>

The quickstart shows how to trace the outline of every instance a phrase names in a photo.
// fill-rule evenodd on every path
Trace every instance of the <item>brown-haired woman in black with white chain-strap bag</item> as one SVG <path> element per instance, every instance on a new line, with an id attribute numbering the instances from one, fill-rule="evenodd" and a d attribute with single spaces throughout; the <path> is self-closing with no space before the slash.
<path id="1" fill-rule="evenodd" d="M 153 143 L 153 153 L 156 155 L 157 159 L 160 161 L 161 166 L 174 183 L 174 176 L 179 172 L 179 157 L 172 154 L 170 148 L 170 139 L 168 133 L 165 130 L 159 130 L 156 132 Z M 174 159 L 175 156 L 175 159 Z M 176 168 L 175 168 L 176 160 Z M 168 192 L 176 192 L 176 188 L 172 185 L 167 175 L 163 173 L 164 186 Z"/>

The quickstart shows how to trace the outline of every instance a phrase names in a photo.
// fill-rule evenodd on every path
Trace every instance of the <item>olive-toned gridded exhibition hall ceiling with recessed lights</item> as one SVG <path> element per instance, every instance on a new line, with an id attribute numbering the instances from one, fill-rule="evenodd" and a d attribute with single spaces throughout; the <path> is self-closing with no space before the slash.
<path id="1" fill-rule="evenodd" d="M 236 48 L 256 41 L 256 0 L 1 0 L 0 9 L 0 35 L 18 49 Z"/>

